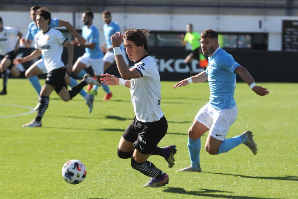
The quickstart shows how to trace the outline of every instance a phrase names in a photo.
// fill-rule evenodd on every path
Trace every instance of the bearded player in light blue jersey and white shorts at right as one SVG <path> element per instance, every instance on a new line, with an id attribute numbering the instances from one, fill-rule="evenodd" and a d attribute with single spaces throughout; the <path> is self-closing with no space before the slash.
<path id="1" fill-rule="evenodd" d="M 244 143 L 253 154 L 257 154 L 257 144 L 252 138 L 252 132 L 246 131 L 241 135 L 225 139 L 229 127 L 237 117 L 237 106 L 234 99 L 236 74 L 260 96 L 269 94 L 266 88 L 257 86 L 249 72 L 238 64 L 232 55 L 226 53 L 218 45 L 218 34 L 214 30 L 201 33 L 201 47 L 204 55 L 208 55 L 208 67 L 204 72 L 179 81 L 173 88 L 186 86 L 193 82 L 209 82 L 210 101 L 202 107 L 195 116 L 192 126 L 188 129 L 188 151 L 191 165 L 177 171 L 201 172 L 200 149 L 201 136 L 209 129 L 205 150 L 216 155 L 235 148 Z"/>

